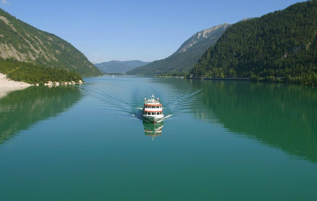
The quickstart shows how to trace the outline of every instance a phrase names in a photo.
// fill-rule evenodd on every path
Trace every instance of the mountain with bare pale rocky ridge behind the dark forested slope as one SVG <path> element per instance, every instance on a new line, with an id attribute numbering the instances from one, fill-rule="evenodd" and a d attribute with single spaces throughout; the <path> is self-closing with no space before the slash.
<path id="1" fill-rule="evenodd" d="M 171 56 L 154 61 L 145 66 L 127 72 L 130 75 L 159 75 L 167 73 L 179 74 L 194 68 L 195 63 L 204 52 L 220 38 L 231 24 L 223 23 L 210 29 L 197 32 L 186 40 Z"/>

